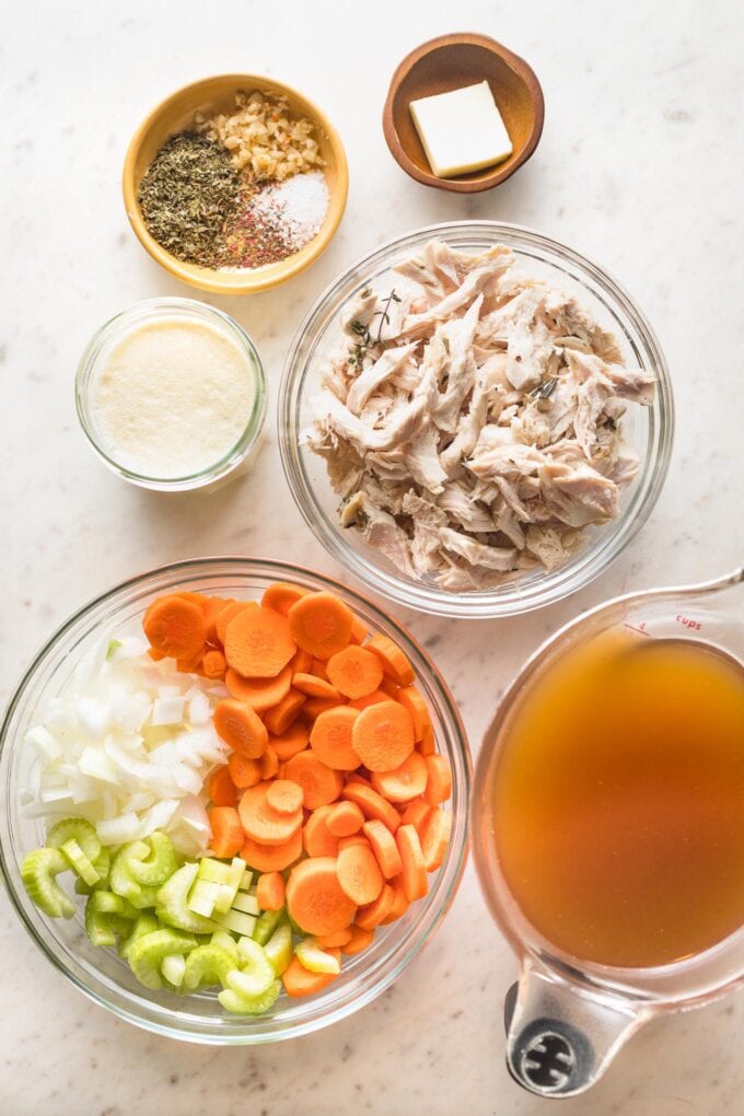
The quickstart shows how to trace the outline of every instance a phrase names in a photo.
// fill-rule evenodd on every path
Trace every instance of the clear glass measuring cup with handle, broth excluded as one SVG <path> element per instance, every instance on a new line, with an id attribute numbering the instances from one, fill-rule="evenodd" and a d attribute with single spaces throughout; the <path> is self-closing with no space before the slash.
<path id="1" fill-rule="evenodd" d="M 699 585 L 629 594 L 579 616 L 526 662 L 486 732 L 474 782 L 473 855 L 491 914 L 520 961 L 519 982 L 505 1004 L 506 1065 L 520 1085 L 545 1097 L 589 1088 L 651 1017 L 702 1006 L 744 983 L 744 925 L 680 961 L 611 968 L 572 956 L 543 937 L 520 910 L 501 870 L 492 788 L 516 700 L 569 648 L 618 627 L 639 638 L 699 642 L 744 667 L 744 567 Z M 744 744 L 744 725 L 742 737 Z"/>

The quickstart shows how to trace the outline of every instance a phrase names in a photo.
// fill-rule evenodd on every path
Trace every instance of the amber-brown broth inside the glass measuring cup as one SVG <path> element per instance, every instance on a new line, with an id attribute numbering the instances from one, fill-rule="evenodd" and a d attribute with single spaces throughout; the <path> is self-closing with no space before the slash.
<path id="1" fill-rule="evenodd" d="M 502 730 L 496 854 L 574 958 L 645 968 L 744 925 L 744 670 L 705 644 L 606 633 L 552 663 Z"/>

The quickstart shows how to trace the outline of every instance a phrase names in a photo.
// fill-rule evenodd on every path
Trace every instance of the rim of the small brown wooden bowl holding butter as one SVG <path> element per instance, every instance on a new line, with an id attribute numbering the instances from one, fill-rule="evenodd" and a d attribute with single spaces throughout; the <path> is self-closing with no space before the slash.
<path id="1" fill-rule="evenodd" d="M 441 50 L 443 47 L 446 48 L 453 46 L 483 47 L 491 54 L 501 58 L 512 73 L 514 73 L 524 83 L 534 108 L 532 129 L 514 161 L 509 163 L 509 166 L 501 166 L 496 164 L 490 174 L 485 174 L 480 179 L 467 179 L 464 176 L 439 179 L 432 171 L 422 171 L 422 169 L 414 163 L 400 143 L 398 131 L 395 126 L 393 109 L 403 80 L 408 76 L 414 66 L 422 60 L 422 58 L 433 54 L 435 50 Z M 421 46 L 415 47 L 398 64 L 393 77 L 390 78 L 385 106 L 383 108 L 383 132 L 385 134 L 387 146 L 390 150 L 390 154 L 395 158 L 396 163 L 412 179 L 423 183 L 425 186 L 433 186 L 438 190 L 448 190 L 453 193 L 474 194 L 481 193 L 484 190 L 492 190 L 500 183 L 505 182 L 506 179 L 510 179 L 515 171 L 519 171 L 520 166 L 526 163 L 540 143 L 544 119 L 545 98 L 538 75 L 534 73 L 530 64 L 520 55 L 514 54 L 514 51 L 510 50 L 509 47 L 505 47 L 502 42 L 499 42 L 489 35 L 481 35 L 474 31 L 456 31 L 451 35 L 439 35 L 434 39 L 428 39 L 426 42 L 422 42 Z"/>

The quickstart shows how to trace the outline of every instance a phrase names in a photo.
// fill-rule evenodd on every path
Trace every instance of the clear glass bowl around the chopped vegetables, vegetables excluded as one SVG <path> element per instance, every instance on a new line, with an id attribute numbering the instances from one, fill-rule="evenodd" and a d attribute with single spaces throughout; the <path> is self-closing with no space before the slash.
<path id="1" fill-rule="evenodd" d="M 369 949 L 346 958 L 344 972 L 323 992 L 303 1000 L 281 995 L 257 1018 L 228 1016 L 214 992 L 176 995 L 139 984 L 113 950 L 93 946 L 75 918 L 48 918 L 29 899 L 20 865 L 44 843 L 44 824 L 26 816 L 21 791 L 30 785 L 32 749 L 28 728 L 65 686 L 76 663 L 102 637 L 136 631 L 156 596 L 176 588 L 220 596 L 259 597 L 272 581 L 329 589 L 368 624 L 397 641 L 408 655 L 434 722 L 439 750 L 453 771 L 450 806 L 453 830 L 446 858 L 429 877 L 429 892 L 390 926 L 380 927 Z M 329 577 L 288 562 L 248 558 L 202 558 L 174 562 L 125 581 L 81 608 L 41 648 L 12 698 L 0 729 L 0 866 L 8 894 L 26 930 L 49 961 L 80 991 L 138 1027 L 192 1042 L 240 1046 L 293 1038 L 344 1019 L 379 995 L 415 958 L 442 922 L 457 889 L 467 854 L 471 762 L 467 739 L 444 680 L 426 653 L 376 605 Z"/>

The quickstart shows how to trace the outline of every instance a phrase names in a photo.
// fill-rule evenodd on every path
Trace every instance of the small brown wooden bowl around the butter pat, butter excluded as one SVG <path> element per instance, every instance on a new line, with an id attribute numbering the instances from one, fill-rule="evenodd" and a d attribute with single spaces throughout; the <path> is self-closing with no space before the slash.
<path id="1" fill-rule="evenodd" d="M 512 154 L 495 166 L 438 179 L 418 138 L 410 102 L 484 78 L 506 125 Z M 542 89 L 523 58 L 487 35 L 443 35 L 412 50 L 396 69 L 383 110 L 383 128 L 394 158 L 412 179 L 439 190 L 473 194 L 497 186 L 528 161 L 538 146 L 543 118 Z"/>

